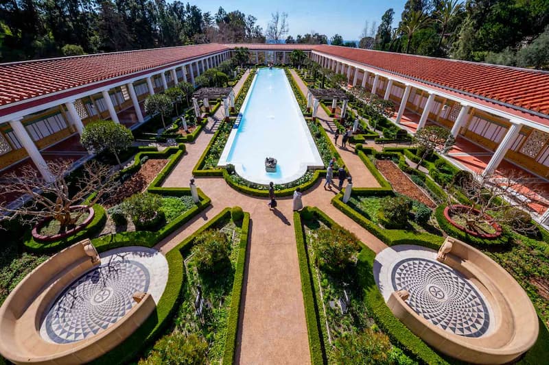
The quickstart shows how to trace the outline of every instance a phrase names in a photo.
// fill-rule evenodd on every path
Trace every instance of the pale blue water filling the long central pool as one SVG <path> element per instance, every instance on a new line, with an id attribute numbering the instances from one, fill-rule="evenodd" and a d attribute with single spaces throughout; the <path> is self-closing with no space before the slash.
<path id="1" fill-rule="evenodd" d="M 273 173 L 265 170 L 267 157 L 277 159 Z M 218 166 L 226 164 L 257 184 L 284 184 L 307 168 L 324 168 L 282 68 L 257 71 Z"/>

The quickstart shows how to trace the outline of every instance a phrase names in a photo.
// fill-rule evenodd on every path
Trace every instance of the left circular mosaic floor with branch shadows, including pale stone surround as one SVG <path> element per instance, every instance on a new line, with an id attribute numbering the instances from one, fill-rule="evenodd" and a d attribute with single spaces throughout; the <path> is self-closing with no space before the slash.
<path id="1" fill-rule="evenodd" d="M 135 292 L 150 292 L 158 302 L 166 281 L 167 262 L 158 251 L 109 251 L 100 266 L 73 281 L 58 296 L 45 315 L 40 335 L 59 344 L 94 336 L 137 304 Z"/>

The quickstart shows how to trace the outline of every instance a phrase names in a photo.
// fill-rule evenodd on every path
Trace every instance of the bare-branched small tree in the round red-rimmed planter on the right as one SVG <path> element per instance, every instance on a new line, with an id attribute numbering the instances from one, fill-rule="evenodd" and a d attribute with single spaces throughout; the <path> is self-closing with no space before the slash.
<path id="1" fill-rule="evenodd" d="M 516 172 L 473 174 L 470 179 L 460 179 L 459 184 L 450 189 L 447 201 L 450 207 L 454 203 L 452 194 L 456 190 L 463 192 L 471 201 L 469 210 L 458 212 L 467 229 L 482 233 L 482 227 L 493 221 L 499 225 L 510 225 L 522 234 L 536 230 L 531 218 L 526 218 L 525 211 L 530 211 L 529 204 L 540 201 L 543 193 L 539 186 L 532 184 L 531 177 Z"/>

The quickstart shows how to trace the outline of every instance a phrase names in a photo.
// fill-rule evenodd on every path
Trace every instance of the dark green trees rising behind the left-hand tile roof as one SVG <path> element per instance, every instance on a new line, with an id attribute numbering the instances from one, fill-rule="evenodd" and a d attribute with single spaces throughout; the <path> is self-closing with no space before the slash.
<path id="1" fill-rule="evenodd" d="M 255 16 L 179 0 L 0 1 L 0 62 L 207 42 L 265 36 Z"/>

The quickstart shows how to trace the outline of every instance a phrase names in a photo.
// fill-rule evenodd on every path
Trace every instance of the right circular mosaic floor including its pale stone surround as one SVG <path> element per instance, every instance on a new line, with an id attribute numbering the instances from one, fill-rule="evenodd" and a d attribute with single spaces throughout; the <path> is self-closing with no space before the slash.
<path id="1" fill-rule="evenodd" d="M 490 303 L 460 272 L 436 260 L 436 251 L 410 244 L 375 257 L 374 276 L 385 301 L 406 290 L 406 304 L 432 325 L 458 336 L 486 336 L 494 327 Z"/>

